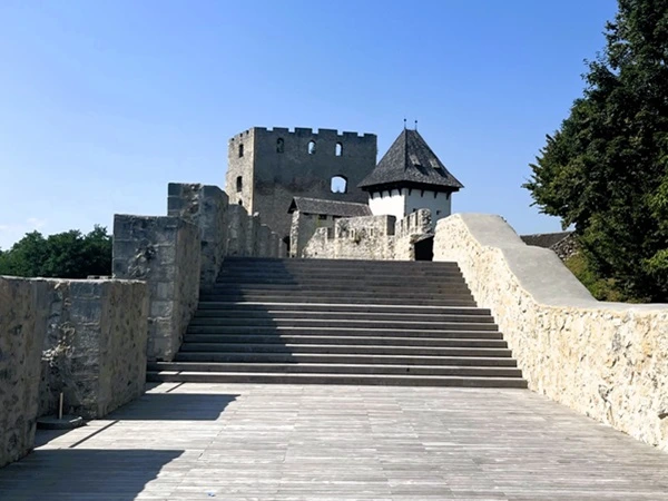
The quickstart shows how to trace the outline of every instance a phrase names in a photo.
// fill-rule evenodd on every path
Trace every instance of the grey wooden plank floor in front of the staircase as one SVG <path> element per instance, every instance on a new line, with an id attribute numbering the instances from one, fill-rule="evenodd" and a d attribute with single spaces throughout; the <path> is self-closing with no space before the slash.
<path id="1" fill-rule="evenodd" d="M 161 384 L 0 500 L 668 500 L 668 454 L 523 390 Z"/>

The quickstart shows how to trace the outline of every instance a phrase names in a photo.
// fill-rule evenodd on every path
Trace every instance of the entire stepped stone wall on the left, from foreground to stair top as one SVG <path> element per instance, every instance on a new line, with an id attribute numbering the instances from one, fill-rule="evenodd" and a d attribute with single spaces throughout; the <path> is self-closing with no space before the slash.
<path id="1" fill-rule="evenodd" d="M 285 254 L 215 186 L 170 184 L 167 205 L 115 216 L 112 279 L 0 276 L 0 466 L 30 452 L 61 393 L 65 414 L 85 419 L 141 395 L 147 361 L 174 357 L 226 256 Z"/>

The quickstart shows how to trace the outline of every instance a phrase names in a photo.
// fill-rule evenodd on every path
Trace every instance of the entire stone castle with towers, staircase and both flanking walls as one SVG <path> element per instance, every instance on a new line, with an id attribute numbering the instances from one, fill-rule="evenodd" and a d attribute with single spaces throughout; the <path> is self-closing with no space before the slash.
<path id="1" fill-rule="evenodd" d="M 147 377 L 528 386 L 668 448 L 668 307 L 598 302 L 500 216 L 451 214 L 416 130 L 376 164 L 374 135 L 256 127 L 228 159 L 226 191 L 115 216 L 112 278 L 0 277 L 0 466 L 59 394 L 101 418 Z"/>

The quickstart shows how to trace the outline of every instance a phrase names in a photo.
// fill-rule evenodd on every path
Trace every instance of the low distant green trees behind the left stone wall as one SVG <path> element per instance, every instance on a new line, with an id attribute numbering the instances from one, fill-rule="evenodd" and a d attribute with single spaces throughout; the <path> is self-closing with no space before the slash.
<path id="1" fill-rule="evenodd" d="M 0 252 L 0 275 L 86 278 L 111 274 L 111 236 L 102 226 L 82 235 L 72 229 L 45 238 L 26 234 L 11 249 Z"/>

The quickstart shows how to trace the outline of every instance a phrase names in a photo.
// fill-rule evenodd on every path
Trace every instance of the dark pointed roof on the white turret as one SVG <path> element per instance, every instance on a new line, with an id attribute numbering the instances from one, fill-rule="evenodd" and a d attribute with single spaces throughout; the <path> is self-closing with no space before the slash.
<path id="1" fill-rule="evenodd" d="M 456 191 L 464 186 L 448 171 L 418 130 L 404 129 L 373 171 L 357 185 L 372 187 L 420 187 Z"/>

